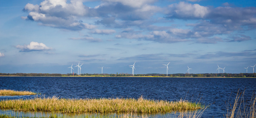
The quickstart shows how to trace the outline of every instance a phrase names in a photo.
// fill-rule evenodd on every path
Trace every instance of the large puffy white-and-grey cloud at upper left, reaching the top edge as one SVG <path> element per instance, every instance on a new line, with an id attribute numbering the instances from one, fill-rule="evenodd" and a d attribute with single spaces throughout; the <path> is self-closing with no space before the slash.
<path id="1" fill-rule="evenodd" d="M 29 14 L 22 16 L 22 19 L 36 21 L 44 26 L 68 30 L 96 28 L 94 25 L 79 20 L 80 17 L 88 15 L 90 11 L 81 0 L 71 0 L 70 3 L 66 0 L 44 0 L 40 5 L 28 3 L 23 10 Z"/>

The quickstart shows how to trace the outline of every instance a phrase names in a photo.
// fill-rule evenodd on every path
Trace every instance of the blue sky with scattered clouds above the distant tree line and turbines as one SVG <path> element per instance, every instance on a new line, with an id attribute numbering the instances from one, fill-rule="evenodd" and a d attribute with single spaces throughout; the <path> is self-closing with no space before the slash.
<path id="1" fill-rule="evenodd" d="M 1 0 L 0 73 L 253 72 L 256 1 Z M 187 67 L 188 66 L 188 67 Z M 223 69 L 220 69 L 223 72 Z M 256 72 L 256 66 L 255 66 Z"/>

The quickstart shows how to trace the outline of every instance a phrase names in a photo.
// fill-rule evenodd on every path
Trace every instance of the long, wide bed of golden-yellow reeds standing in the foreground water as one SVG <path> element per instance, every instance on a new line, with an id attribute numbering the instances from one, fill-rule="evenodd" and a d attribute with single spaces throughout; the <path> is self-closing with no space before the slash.
<path id="1" fill-rule="evenodd" d="M 100 99 L 63 99 L 35 97 L 34 99 L 16 99 L 0 101 L 1 109 L 16 111 L 56 111 L 62 113 L 166 113 L 170 111 L 196 110 L 202 108 L 199 103 L 179 100 L 147 100 L 129 98 Z"/>

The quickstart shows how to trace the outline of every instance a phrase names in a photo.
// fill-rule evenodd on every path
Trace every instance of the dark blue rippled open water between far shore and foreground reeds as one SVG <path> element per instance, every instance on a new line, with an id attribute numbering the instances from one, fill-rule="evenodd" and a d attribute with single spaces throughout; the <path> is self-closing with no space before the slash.
<path id="1" fill-rule="evenodd" d="M 240 88 L 245 98 L 256 90 L 256 78 L 163 78 L 163 77 L 0 77 L 0 89 L 28 90 L 45 97 L 61 98 L 138 98 L 197 101 L 210 108 L 201 118 L 226 114 L 225 101 L 233 101 Z M 33 98 L 0 96 L 0 99 Z M 2 111 L 2 113 L 7 111 Z M 169 115 L 169 114 L 167 114 Z M 166 117 L 164 115 L 160 115 Z"/>

